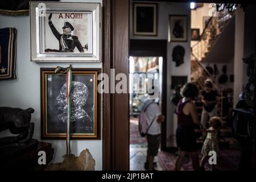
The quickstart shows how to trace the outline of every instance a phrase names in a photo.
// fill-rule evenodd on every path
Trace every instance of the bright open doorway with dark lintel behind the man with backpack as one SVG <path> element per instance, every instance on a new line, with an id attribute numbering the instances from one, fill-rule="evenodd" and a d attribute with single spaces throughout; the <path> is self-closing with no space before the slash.
<path id="1" fill-rule="evenodd" d="M 162 113 L 166 114 L 166 40 L 130 40 L 129 90 L 130 90 L 130 170 L 144 170 L 146 162 L 147 141 L 138 131 L 139 113 L 148 94 L 144 86 L 152 81 L 159 88 L 155 102 Z M 139 82 L 134 82 L 138 76 Z M 144 81 L 144 82 L 143 82 Z M 166 123 L 161 126 L 161 149 L 166 148 Z M 154 159 L 157 162 L 157 158 Z M 161 167 L 158 167 L 161 170 Z"/>

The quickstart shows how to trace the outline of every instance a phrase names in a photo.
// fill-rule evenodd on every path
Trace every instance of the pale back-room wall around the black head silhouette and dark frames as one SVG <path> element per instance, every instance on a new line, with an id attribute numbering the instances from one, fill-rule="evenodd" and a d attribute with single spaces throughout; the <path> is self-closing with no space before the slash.
<path id="1" fill-rule="evenodd" d="M 132 5 L 130 7 L 133 7 Z M 133 36 L 133 27 L 130 26 L 130 39 L 165 39 L 168 40 L 168 17 L 169 15 L 188 15 L 188 42 L 168 42 L 167 44 L 167 140 L 174 134 L 174 105 L 170 101 L 173 90 L 171 90 L 171 76 L 191 76 L 190 60 L 190 32 L 191 32 L 191 10 L 190 3 L 160 2 L 158 3 L 158 36 Z M 133 23 L 132 9 L 130 11 L 130 25 Z M 185 48 L 184 64 L 175 66 L 172 61 L 172 49 L 177 46 Z M 167 147 L 173 146 L 173 143 L 167 141 Z"/>

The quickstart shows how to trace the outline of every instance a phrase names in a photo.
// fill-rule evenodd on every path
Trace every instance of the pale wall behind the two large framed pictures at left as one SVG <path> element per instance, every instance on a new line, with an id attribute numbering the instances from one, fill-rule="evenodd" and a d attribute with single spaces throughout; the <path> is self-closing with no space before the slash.
<path id="1" fill-rule="evenodd" d="M 90 0 L 90 2 L 101 0 Z M 64 1 L 63 1 L 64 2 Z M 65 1 L 89 2 L 89 1 Z M 32 107 L 35 113 L 31 121 L 35 123 L 35 139 L 40 140 L 40 68 L 55 68 L 57 65 L 67 67 L 69 63 L 32 63 L 30 61 L 30 18 L 29 16 L 2 16 L 0 28 L 15 27 L 17 34 L 17 62 L 16 80 L 0 81 L 0 106 Z M 101 63 L 72 63 L 74 68 L 101 68 Z M 102 124 L 101 124 L 102 126 Z M 9 131 L 1 132 L 1 137 L 11 135 Z M 52 143 L 54 155 L 52 162 L 62 162 L 65 155 L 65 140 L 44 140 Z M 96 170 L 102 170 L 102 140 L 72 140 L 72 154 L 78 156 L 82 150 L 88 148 L 96 161 Z"/>

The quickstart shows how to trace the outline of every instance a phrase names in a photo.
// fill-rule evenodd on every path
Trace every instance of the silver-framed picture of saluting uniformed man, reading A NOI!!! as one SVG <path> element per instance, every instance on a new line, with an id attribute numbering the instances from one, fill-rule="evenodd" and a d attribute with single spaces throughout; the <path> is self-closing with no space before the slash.
<path id="1" fill-rule="evenodd" d="M 101 4 L 30 2 L 31 61 L 101 61 Z"/>

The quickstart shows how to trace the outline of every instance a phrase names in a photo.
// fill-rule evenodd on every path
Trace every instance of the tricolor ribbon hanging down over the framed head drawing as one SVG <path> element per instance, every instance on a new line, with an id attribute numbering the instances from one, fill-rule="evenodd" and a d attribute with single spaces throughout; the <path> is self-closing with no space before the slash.
<path id="1" fill-rule="evenodd" d="M 67 156 L 69 156 L 69 154 L 71 153 L 71 147 L 70 147 L 71 88 L 72 88 L 72 66 L 71 65 L 68 67 L 66 79 L 67 79 L 67 106 L 68 106 L 66 149 L 67 149 Z"/>

